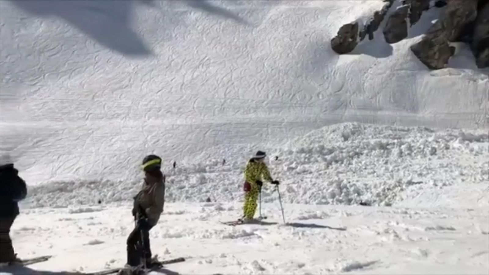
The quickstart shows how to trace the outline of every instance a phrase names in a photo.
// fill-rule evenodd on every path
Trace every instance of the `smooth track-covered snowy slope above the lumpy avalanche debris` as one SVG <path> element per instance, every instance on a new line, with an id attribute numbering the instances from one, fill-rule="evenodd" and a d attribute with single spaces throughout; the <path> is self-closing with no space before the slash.
<path id="1" fill-rule="evenodd" d="M 1 1 L 1 148 L 30 183 L 133 181 L 151 152 L 168 165 L 241 161 L 343 121 L 488 127 L 487 72 L 467 55 L 464 68 L 428 71 L 408 50 L 421 31 L 333 53 L 337 29 L 382 1 L 156 1 L 113 14 L 111 2 L 45 2 L 34 16 Z M 87 34 L 110 38 L 121 20 L 152 55 Z"/>

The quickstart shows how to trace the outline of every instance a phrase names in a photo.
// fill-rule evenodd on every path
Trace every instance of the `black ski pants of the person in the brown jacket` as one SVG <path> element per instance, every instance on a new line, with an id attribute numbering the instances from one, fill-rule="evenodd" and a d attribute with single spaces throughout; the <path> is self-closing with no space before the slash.
<path id="1" fill-rule="evenodd" d="M 141 263 L 141 257 L 144 257 L 147 261 L 151 259 L 150 249 L 150 229 L 153 225 L 150 225 L 146 221 L 140 221 L 133 229 L 129 237 L 127 238 L 127 264 L 130 266 L 137 266 Z M 143 255 L 138 251 L 137 243 L 143 243 Z"/>

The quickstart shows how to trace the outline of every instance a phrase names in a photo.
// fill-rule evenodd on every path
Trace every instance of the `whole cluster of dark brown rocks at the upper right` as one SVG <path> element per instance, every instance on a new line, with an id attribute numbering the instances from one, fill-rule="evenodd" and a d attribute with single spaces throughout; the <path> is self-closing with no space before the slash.
<path id="1" fill-rule="evenodd" d="M 362 29 L 356 22 L 343 25 L 331 40 L 333 50 L 345 54 L 353 51 L 367 35 L 373 40 L 374 32 L 394 1 L 384 2 L 382 9 Z M 450 43 L 463 42 L 470 45 L 478 68 L 489 67 L 489 0 L 437 0 L 435 7 L 445 9 L 422 40 L 411 46 L 418 59 L 429 69 L 445 68 L 455 54 L 455 47 Z M 423 11 L 429 8 L 430 0 L 402 0 L 402 5 L 386 20 L 382 30 L 385 41 L 393 44 L 407 38 L 408 28 L 418 23 Z"/>

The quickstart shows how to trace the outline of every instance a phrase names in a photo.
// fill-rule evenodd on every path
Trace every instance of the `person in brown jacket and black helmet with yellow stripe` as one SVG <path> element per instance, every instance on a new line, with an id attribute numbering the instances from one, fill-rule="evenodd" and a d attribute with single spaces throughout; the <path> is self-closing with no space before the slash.
<path id="1" fill-rule="evenodd" d="M 151 268 L 154 264 L 151 260 L 149 230 L 153 228 L 163 212 L 165 203 L 165 175 L 161 172 L 161 158 L 149 155 L 141 165 L 145 173 L 141 191 L 134 197 L 133 216 L 136 227 L 127 239 L 127 265 L 132 271 L 142 265 Z M 137 243 L 143 245 L 143 255 L 139 254 Z M 141 256 L 145 263 L 141 263 Z"/>

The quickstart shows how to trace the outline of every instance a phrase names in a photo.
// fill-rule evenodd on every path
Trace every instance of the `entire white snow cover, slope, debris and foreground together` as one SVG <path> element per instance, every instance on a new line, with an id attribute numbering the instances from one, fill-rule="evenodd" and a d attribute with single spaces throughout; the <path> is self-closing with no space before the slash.
<path id="1" fill-rule="evenodd" d="M 488 70 L 464 46 L 446 69 L 416 59 L 436 8 L 335 54 L 383 4 L 0 1 L 0 153 L 29 188 L 11 235 L 53 255 L 1 274 L 122 267 L 151 153 L 152 250 L 186 258 L 153 274 L 489 274 Z M 222 225 L 257 150 L 287 223 L 267 186 L 269 225 Z"/>

